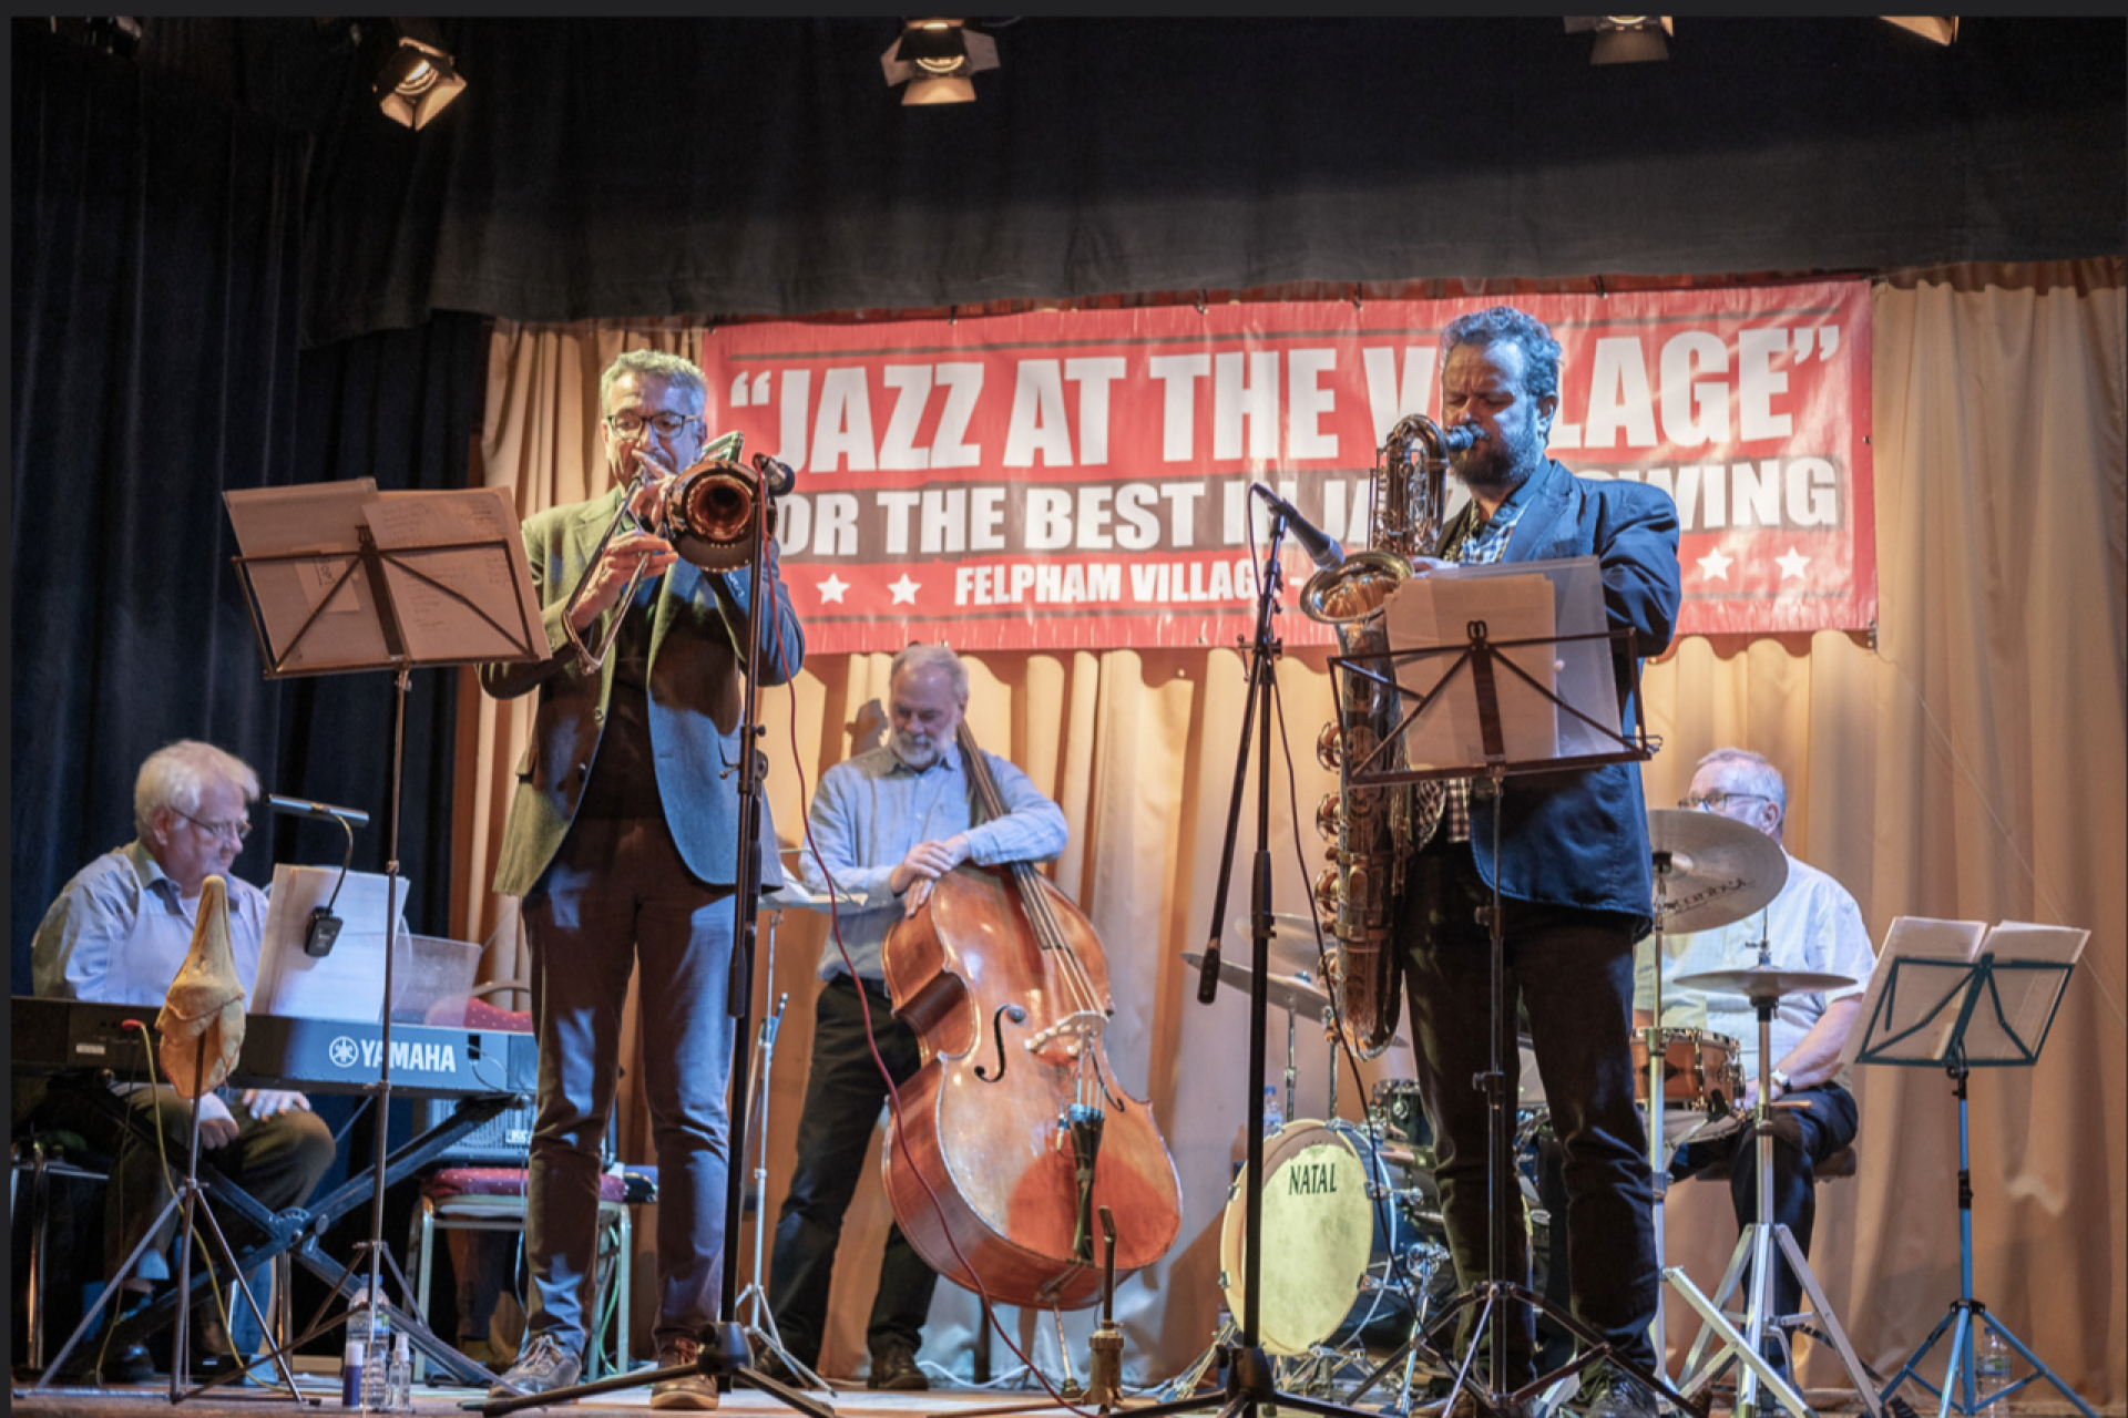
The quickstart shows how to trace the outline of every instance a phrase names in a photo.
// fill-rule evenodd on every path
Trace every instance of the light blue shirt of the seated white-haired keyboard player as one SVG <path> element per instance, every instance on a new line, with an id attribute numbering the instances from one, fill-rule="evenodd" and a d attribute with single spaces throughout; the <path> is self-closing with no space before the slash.
<path id="1" fill-rule="evenodd" d="M 236 980 L 251 991 L 266 935 L 266 893 L 230 884 Z M 30 944 L 30 980 L 49 999 L 160 1006 L 192 952 L 202 897 L 183 899 L 138 840 L 74 872 Z"/>

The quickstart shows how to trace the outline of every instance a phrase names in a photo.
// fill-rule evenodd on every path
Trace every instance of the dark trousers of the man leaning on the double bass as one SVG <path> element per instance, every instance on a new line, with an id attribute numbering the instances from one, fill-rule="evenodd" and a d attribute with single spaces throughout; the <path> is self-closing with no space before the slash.
<path id="1" fill-rule="evenodd" d="M 917 1035 L 894 1018 L 885 995 L 836 976 L 819 991 L 813 1010 L 813 1071 L 804 1084 L 798 1116 L 798 1169 L 777 1216 L 777 1246 L 768 1269 L 768 1305 L 777 1333 L 800 1363 L 819 1363 L 819 1341 L 828 1329 L 828 1290 L 834 1284 L 834 1250 L 843 1239 L 843 1216 L 858 1195 L 864 1152 L 872 1144 L 887 1082 L 872 1063 L 864 1037 L 870 1014 L 879 1057 L 894 1082 L 902 1084 L 924 1063 Z M 924 1341 L 936 1271 L 924 1263 L 900 1225 L 887 1231 L 887 1252 L 879 1261 L 879 1288 L 864 1339 L 872 1354 Z"/>

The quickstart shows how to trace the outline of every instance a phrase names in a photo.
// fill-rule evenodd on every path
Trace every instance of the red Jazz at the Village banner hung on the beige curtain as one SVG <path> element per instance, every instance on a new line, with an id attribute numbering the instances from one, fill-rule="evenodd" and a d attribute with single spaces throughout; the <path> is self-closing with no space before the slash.
<path id="1" fill-rule="evenodd" d="M 798 474 L 779 542 L 817 653 L 1232 644 L 1249 485 L 1364 546 L 1375 449 L 1439 417 L 1441 327 L 1485 304 L 734 325 L 704 342 L 709 425 Z M 1566 351 L 1553 457 L 1677 502 L 1679 634 L 1875 619 L 1864 283 L 1517 304 Z M 1283 563 L 1292 608 L 1313 568 Z"/>

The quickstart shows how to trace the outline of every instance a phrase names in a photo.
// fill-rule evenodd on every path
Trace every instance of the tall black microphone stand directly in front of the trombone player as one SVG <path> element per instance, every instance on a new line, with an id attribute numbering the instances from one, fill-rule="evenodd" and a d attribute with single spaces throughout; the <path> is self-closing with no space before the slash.
<path id="1" fill-rule="evenodd" d="M 751 1033 L 753 1025 L 753 935 L 760 923 L 762 908 L 762 855 L 760 855 L 760 833 L 762 833 L 762 774 L 768 767 L 768 757 L 755 748 L 755 740 L 764 733 L 762 729 L 762 695 L 760 695 L 760 668 L 762 668 L 762 591 L 770 587 L 768 578 L 768 540 L 772 536 L 768 519 L 768 497 L 770 497 L 770 476 L 781 470 L 775 459 L 764 459 L 755 455 L 755 470 L 762 474 L 753 497 L 753 557 L 747 563 L 747 648 L 745 648 L 745 719 L 741 723 L 741 755 L 738 755 L 738 859 L 732 872 L 732 976 L 726 984 L 726 1008 L 730 1010 L 736 1025 L 732 1027 L 732 1037 L 743 1040 Z M 785 470 L 787 472 L 787 470 Z M 768 627 L 775 629 L 777 606 L 775 595 L 768 597 L 766 606 Z M 749 1093 L 749 1061 L 751 1054 L 745 1048 L 732 1050 L 732 1076 L 730 1076 L 730 1125 L 726 1137 L 738 1137 L 741 1148 L 747 1137 L 747 1093 Z M 724 1178 L 724 1273 L 719 1293 L 719 1314 L 721 1320 L 704 1324 L 696 1335 L 696 1361 L 692 1365 L 666 1365 L 662 1369 L 645 1369 L 641 1373 L 617 1373 L 613 1378 L 602 1378 L 589 1384 L 572 1384 L 568 1388 L 549 1388 L 547 1392 L 528 1392 L 511 1399 L 489 1399 L 479 1405 L 479 1412 L 515 1414 L 526 1407 L 549 1407 L 553 1403 L 568 1403 L 572 1399 L 585 1399 L 602 1392 L 617 1392 L 621 1388 L 643 1388 L 647 1384 L 664 1384 L 666 1380 L 687 1378 L 700 1373 L 717 1382 L 719 1390 L 728 1388 L 728 1380 L 745 1380 L 747 1384 L 770 1395 L 785 1407 L 809 1414 L 809 1418 L 834 1418 L 834 1409 L 817 1399 L 809 1399 L 796 1388 L 775 1380 L 753 1367 L 753 1350 L 747 1344 L 747 1329 L 736 1318 L 736 1282 L 738 1282 L 738 1235 L 745 1229 L 743 1218 L 743 1186 L 732 1186 L 730 1167 L 730 1146 L 726 1148 L 726 1178 Z"/>

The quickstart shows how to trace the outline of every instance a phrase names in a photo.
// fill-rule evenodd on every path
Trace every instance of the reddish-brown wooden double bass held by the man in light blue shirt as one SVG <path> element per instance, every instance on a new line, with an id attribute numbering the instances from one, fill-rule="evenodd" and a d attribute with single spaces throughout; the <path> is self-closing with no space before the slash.
<path id="1" fill-rule="evenodd" d="M 1004 816 L 966 721 L 955 740 L 977 806 Z M 1181 1229 L 1175 1159 L 1109 1067 L 1109 961 L 1070 897 L 1028 861 L 962 863 L 894 925 L 881 965 L 924 1050 L 881 1154 L 917 1254 L 994 1303 L 1043 1310 L 1098 1299 L 1096 1208 L 1124 1222 L 1119 1273 L 1164 1256 Z"/>

